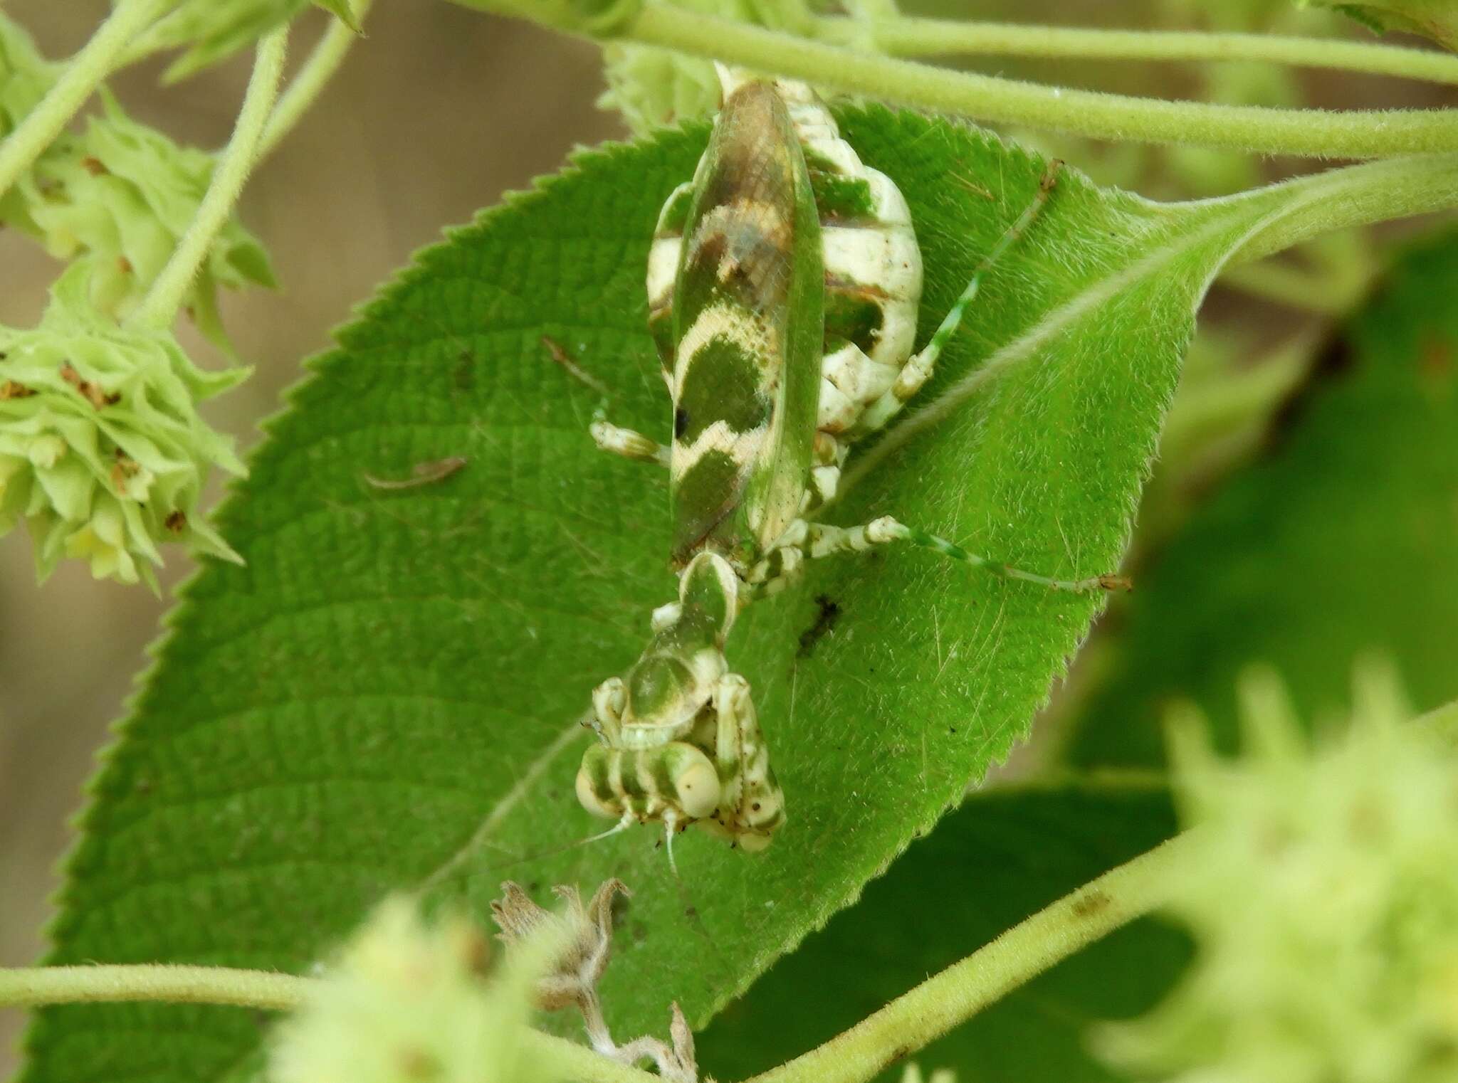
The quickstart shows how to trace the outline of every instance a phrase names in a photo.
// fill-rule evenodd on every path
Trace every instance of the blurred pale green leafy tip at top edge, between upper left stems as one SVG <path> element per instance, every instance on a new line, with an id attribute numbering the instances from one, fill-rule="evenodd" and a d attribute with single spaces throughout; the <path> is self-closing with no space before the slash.
<path id="1" fill-rule="evenodd" d="M 311 3 L 357 29 L 351 0 L 182 0 L 141 36 L 136 52 L 187 50 L 162 73 L 163 82 L 176 82 L 252 45 Z"/>

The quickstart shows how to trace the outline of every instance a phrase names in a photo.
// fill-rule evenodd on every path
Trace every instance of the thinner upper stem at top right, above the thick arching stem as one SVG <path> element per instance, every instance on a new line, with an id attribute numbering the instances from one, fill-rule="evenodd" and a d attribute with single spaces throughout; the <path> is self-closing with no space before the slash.
<path id="1" fill-rule="evenodd" d="M 875 44 L 894 57 L 1080 57 L 1085 60 L 1258 60 L 1296 67 L 1458 83 L 1458 57 L 1366 41 L 1327 41 L 1279 34 L 1104 31 L 1073 26 L 919 19 L 860 20 L 824 16 L 812 34 L 837 45 Z"/>

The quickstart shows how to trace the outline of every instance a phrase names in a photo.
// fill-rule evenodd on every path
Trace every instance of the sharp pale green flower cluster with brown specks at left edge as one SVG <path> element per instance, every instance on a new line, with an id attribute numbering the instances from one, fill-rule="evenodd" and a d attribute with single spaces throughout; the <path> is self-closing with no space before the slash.
<path id="1" fill-rule="evenodd" d="M 55 281 L 35 329 L 0 327 L 0 535 L 25 520 L 42 580 L 76 557 L 156 589 L 165 541 L 239 560 L 197 503 L 210 465 L 243 465 L 197 402 L 248 370 L 203 372 L 169 331 L 118 327 L 92 305 L 89 271 Z"/>

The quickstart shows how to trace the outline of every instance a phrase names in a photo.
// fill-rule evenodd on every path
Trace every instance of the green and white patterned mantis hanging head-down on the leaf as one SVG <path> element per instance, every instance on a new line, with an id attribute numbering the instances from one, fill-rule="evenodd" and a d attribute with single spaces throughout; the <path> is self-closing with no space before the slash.
<path id="1" fill-rule="evenodd" d="M 840 528 L 806 516 L 835 494 L 850 446 L 930 376 L 983 270 L 1026 229 L 1051 188 L 983 261 L 913 353 L 921 254 L 905 198 L 840 138 L 803 83 L 722 71 L 725 102 L 694 178 L 669 195 L 647 267 L 649 328 L 674 405 L 668 447 L 598 418 L 604 450 L 669 471 L 679 601 L 624 678 L 598 687 L 585 724 L 583 808 L 695 824 L 761 850 L 784 821 L 748 682 L 725 638 L 739 609 L 805 560 L 913 541 L 994 574 L 1050 580 L 882 517 Z M 611 832 L 609 832 L 611 834 Z M 669 850 L 672 854 L 672 850 Z"/>

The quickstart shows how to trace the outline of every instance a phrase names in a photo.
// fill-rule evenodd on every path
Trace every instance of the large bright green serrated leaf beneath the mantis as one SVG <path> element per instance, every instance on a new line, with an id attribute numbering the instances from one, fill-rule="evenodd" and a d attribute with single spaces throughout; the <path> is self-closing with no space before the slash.
<path id="1" fill-rule="evenodd" d="M 927 335 L 1044 163 L 913 114 L 843 121 L 911 206 Z M 187 587 L 93 784 L 52 962 L 297 971 L 394 889 L 484 914 L 503 877 L 542 898 L 617 875 L 634 901 L 609 1023 L 662 1032 L 674 998 L 703 1023 L 1026 733 L 1099 599 L 926 551 L 825 561 L 729 644 L 789 800 L 768 853 L 691 832 L 675 882 L 652 832 L 560 850 L 601 826 L 573 799 L 589 689 L 674 592 L 665 478 L 586 429 L 605 385 L 614 421 L 668 433 L 643 268 L 704 137 L 583 155 L 420 254 L 313 363 L 220 515 L 248 566 Z M 1114 570 L 1200 296 L 1321 191 L 1162 206 L 1064 173 L 833 519 L 894 512 L 1050 574 Z M 455 456 L 434 484 L 378 484 Z M 257 1045 L 242 1012 L 52 1009 L 25 1079 L 214 1079 Z"/>

